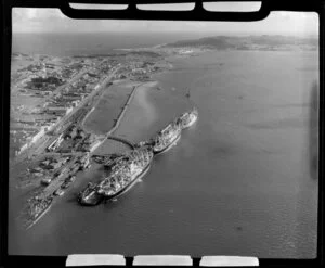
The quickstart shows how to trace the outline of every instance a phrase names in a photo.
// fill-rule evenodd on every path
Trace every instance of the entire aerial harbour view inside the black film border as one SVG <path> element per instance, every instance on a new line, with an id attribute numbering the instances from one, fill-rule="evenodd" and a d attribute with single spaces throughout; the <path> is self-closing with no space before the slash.
<path id="1" fill-rule="evenodd" d="M 8 253 L 315 258 L 318 24 L 13 8 Z"/>

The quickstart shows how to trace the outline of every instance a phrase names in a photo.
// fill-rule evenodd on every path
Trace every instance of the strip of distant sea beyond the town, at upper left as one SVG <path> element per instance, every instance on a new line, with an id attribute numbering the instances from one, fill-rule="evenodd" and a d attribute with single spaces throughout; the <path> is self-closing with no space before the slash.
<path id="1" fill-rule="evenodd" d="M 153 47 L 182 39 L 199 38 L 197 33 L 93 33 L 93 34 L 15 34 L 12 51 L 57 56 L 105 54 L 114 49 Z"/>

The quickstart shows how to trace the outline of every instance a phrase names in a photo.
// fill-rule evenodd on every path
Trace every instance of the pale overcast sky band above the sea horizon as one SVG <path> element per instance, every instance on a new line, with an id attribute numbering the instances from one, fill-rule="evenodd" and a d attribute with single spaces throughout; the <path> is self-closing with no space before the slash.
<path id="1" fill-rule="evenodd" d="M 222 8 L 227 8 L 229 4 L 225 3 Z M 244 10 L 240 3 L 231 7 Z M 307 12 L 277 11 L 272 12 L 263 21 L 245 23 L 72 20 L 66 17 L 58 9 L 26 8 L 13 9 L 12 17 L 13 33 L 200 31 L 207 34 L 243 33 L 299 36 L 316 35 L 318 33 L 318 15 Z"/>

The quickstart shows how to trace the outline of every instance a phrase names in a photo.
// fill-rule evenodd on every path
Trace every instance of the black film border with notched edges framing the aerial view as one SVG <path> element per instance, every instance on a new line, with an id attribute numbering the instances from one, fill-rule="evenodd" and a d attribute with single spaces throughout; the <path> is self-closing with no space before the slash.
<path id="1" fill-rule="evenodd" d="M 227 0 L 229 1 L 229 0 Z M 235 2 L 247 2 L 237 0 Z M 2 71 L 1 72 L 1 136 L 0 136 L 0 266 L 31 266 L 31 267 L 64 267 L 66 256 L 22 256 L 8 254 L 8 213 L 9 213 L 9 129 L 10 129 L 10 69 L 12 46 L 12 9 L 13 8 L 56 8 L 70 18 L 90 20 L 148 20 L 148 21 L 260 21 L 272 11 L 315 12 L 318 14 L 318 48 L 320 48 L 320 140 L 318 140 L 318 208 L 317 208 L 317 257 L 315 259 L 285 259 L 285 258 L 259 258 L 261 267 L 306 267 L 324 266 L 324 140 L 325 140 L 325 1 L 280 1 L 261 0 L 261 9 L 253 12 L 211 12 L 203 9 L 203 2 L 217 2 L 216 0 L 96 0 L 102 4 L 129 4 L 127 10 L 75 10 L 69 7 L 73 3 L 94 3 L 91 0 L 3 0 L 2 1 Z M 136 9 L 144 3 L 186 3 L 195 2 L 192 11 L 143 11 Z M 221 2 L 224 2 L 221 1 Z M 229 1 L 233 2 L 233 1 Z M 193 266 L 199 265 L 200 258 L 193 257 Z M 131 266 L 132 256 L 126 256 L 126 265 Z"/>

